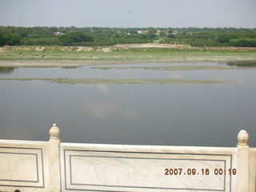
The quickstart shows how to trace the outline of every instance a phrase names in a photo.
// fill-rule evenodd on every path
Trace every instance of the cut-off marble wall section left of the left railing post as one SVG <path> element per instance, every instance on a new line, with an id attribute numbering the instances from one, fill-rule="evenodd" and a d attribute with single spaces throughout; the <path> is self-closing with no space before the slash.
<path id="1" fill-rule="evenodd" d="M 0 140 L 0 191 L 46 191 L 47 142 Z"/>

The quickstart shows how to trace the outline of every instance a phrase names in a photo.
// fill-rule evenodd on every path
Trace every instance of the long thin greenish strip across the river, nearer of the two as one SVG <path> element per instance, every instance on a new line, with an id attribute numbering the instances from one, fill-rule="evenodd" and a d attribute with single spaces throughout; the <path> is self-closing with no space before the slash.
<path id="1" fill-rule="evenodd" d="M 165 83 L 223 83 L 227 80 L 134 79 L 134 78 L 0 78 L 5 81 L 48 81 L 62 84 L 165 84 Z"/>

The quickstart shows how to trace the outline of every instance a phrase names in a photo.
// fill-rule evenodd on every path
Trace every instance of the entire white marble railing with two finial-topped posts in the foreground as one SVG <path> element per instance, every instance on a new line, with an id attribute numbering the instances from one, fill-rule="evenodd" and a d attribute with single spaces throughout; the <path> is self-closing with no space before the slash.
<path id="1" fill-rule="evenodd" d="M 0 140 L 2 191 L 256 192 L 256 148 L 127 146 Z"/>

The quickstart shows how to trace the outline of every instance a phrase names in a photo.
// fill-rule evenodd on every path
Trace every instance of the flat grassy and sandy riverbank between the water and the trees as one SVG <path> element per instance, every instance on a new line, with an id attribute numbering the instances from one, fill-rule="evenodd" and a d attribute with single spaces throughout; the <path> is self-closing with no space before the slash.
<path id="1" fill-rule="evenodd" d="M 256 50 L 6 47 L 0 66 L 94 66 L 141 62 L 255 62 Z"/>

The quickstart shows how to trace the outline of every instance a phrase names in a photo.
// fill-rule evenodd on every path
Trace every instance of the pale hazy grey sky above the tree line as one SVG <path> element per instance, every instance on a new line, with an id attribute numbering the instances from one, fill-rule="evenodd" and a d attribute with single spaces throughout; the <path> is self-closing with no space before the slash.
<path id="1" fill-rule="evenodd" d="M 0 0 L 0 26 L 256 27 L 256 0 Z"/>

